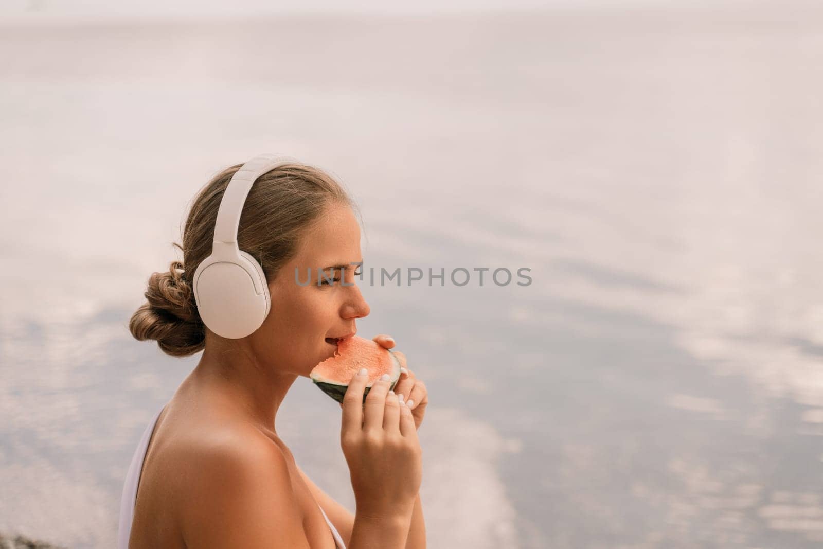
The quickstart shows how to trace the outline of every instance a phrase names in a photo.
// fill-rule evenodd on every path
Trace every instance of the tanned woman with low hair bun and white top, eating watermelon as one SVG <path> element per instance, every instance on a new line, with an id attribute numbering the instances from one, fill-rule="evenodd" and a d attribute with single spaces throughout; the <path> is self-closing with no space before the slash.
<path id="1" fill-rule="evenodd" d="M 403 368 L 394 391 L 375 382 L 365 403 L 361 371 L 341 404 L 356 515 L 300 470 L 275 427 L 295 379 L 333 356 L 336 339 L 356 333 L 356 319 L 369 314 L 354 269 L 326 268 L 362 261 L 356 208 L 341 185 L 297 161 L 250 179 L 236 242 L 265 275 L 270 311 L 238 338 L 217 335 L 198 314 L 193 273 L 212 253 L 221 199 L 242 167 L 198 193 L 183 246 L 175 244 L 183 263 L 151 275 L 147 303 L 131 319 L 138 340 L 202 357 L 138 445 L 123 488 L 120 547 L 425 547 L 416 429 L 428 398 L 411 371 Z M 319 283 L 297 283 L 295 272 L 309 268 L 324 268 Z M 394 346 L 388 336 L 374 340 Z"/>

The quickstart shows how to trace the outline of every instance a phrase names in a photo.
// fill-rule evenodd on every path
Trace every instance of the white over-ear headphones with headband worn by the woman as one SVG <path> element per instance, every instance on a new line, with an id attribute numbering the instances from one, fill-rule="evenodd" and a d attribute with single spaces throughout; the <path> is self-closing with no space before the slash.
<path id="1" fill-rule="evenodd" d="M 229 339 L 260 328 L 272 307 L 263 268 L 237 245 L 237 229 L 254 180 L 280 165 L 297 163 L 275 155 L 255 156 L 232 176 L 223 193 L 214 228 L 212 254 L 194 271 L 192 287 L 207 328 Z"/>

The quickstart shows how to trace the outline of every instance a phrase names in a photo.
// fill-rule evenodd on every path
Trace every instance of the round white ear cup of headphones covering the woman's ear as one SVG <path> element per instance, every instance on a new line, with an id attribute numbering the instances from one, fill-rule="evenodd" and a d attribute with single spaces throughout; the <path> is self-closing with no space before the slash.
<path id="1" fill-rule="evenodd" d="M 257 262 L 244 255 L 235 262 L 209 256 L 194 273 L 194 299 L 200 318 L 212 332 L 229 339 L 254 333 L 270 309 L 265 277 L 260 280 L 262 269 L 259 265 L 254 268 Z M 261 287 L 263 291 L 258 291 Z"/>

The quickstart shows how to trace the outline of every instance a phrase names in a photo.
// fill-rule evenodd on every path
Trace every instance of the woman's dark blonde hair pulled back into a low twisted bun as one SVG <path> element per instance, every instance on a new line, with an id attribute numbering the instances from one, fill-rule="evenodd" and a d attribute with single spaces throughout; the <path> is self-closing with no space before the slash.
<path id="1" fill-rule="evenodd" d="M 217 209 L 232 175 L 242 164 L 216 174 L 194 198 L 183 231 L 183 261 L 148 280 L 146 303 L 132 315 L 128 328 L 139 341 L 153 339 L 171 356 L 188 356 L 206 346 L 206 326 L 194 301 L 192 281 L 200 262 L 212 253 Z M 342 184 L 319 168 L 293 163 L 261 175 L 252 185 L 240 215 L 239 249 L 257 259 L 267 281 L 295 257 L 305 235 L 335 204 L 355 203 Z"/>

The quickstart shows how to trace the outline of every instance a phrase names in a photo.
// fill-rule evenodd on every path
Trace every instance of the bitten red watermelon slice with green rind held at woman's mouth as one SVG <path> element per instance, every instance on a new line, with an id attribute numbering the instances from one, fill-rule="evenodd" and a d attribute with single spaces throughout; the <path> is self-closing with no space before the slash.
<path id="1" fill-rule="evenodd" d="M 360 368 L 369 370 L 369 379 L 363 391 L 364 402 L 371 386 L 381 375 L 388 374 L 389 389 L 393 389 L 400 379 L 398 357 L 378 342 L 359 336 L 338 340 L 334 356 L 314 366 L 309 378 L 323 393 L 337 402 L 343 402 L 351 376 Z"/>

